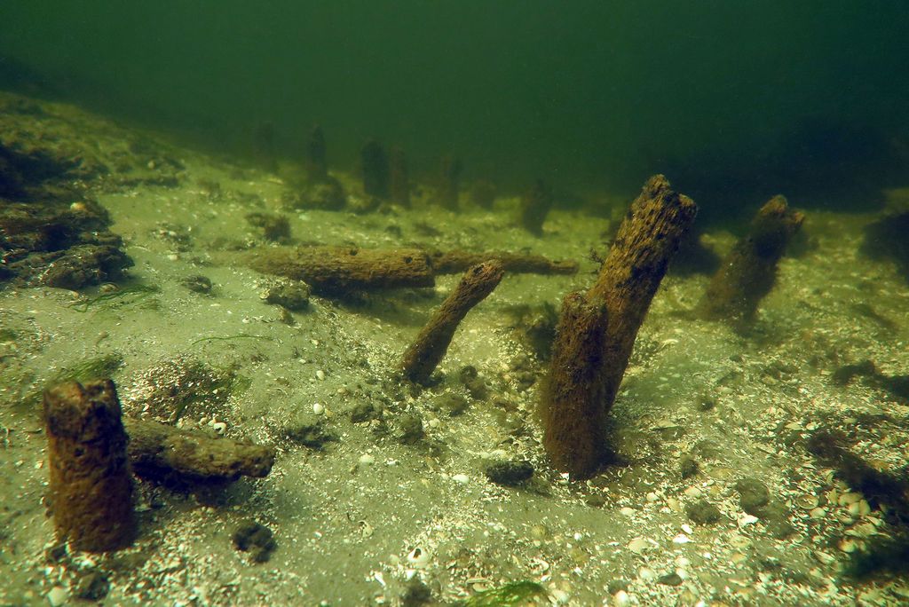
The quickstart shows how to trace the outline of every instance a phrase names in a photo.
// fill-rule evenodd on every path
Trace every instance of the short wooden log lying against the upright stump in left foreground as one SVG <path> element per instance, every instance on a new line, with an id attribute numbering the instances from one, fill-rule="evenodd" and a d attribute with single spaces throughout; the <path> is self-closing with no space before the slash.
<path id="1" fill-rule="evenodd" d="M 181 430 L 165 423 L 125 418 L 127 452 L 138 476 L 167 483 L 224 483 L 266 476 L 275 449 Z"/>

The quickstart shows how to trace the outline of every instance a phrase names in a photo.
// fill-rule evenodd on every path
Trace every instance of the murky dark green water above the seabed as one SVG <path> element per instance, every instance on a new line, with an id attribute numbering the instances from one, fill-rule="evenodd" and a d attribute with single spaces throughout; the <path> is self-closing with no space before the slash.
<path id="1" fill-rule="evenodd" d="M 336 166 L 375 136 L 514 191 L 661 171 L 714 218 L 909 182 L 905 0 L 6 0 L 0 86 L 240 155 L 318 122 Z"/>

